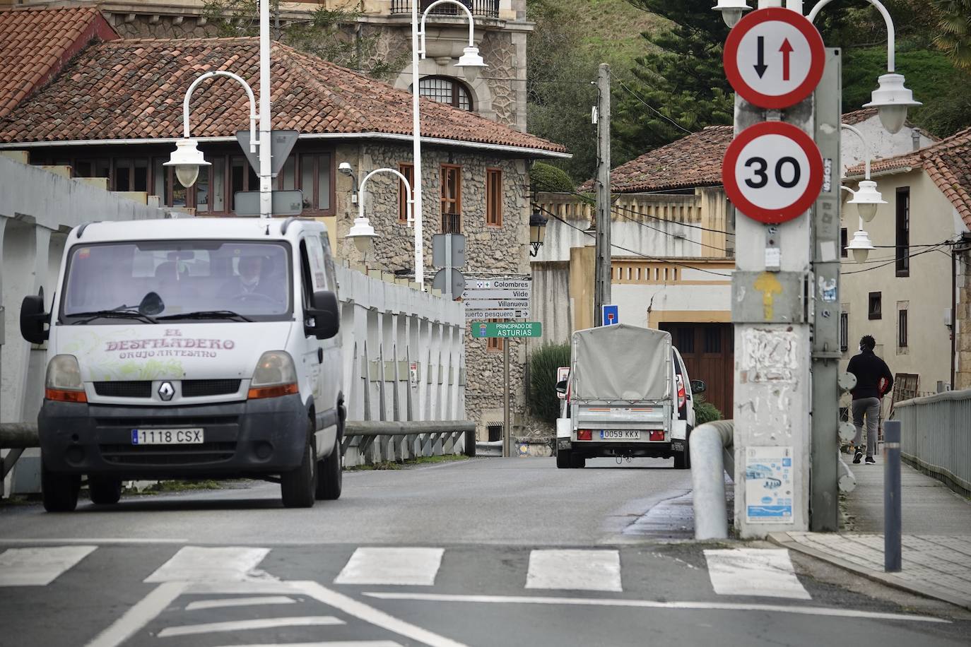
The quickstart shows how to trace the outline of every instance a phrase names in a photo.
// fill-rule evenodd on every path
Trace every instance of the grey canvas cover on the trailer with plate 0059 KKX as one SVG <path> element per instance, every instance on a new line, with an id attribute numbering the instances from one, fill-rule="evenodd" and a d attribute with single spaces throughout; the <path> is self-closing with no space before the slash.
<path id="1" fill-rule="evenodd" d="M 660 401 L 670 397 L 671 334 L 628 324 L 573 334 L 572 398 Z"/>

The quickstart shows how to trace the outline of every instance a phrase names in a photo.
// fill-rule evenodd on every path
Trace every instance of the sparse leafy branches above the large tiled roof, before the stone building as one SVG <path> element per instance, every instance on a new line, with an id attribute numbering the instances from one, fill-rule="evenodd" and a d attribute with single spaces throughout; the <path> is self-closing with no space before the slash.
<path id="1" fill-rule="evenodd" d="M 364 35 L 352 29 L 360 13 L 360 2 L 337 9 L 318 7 L 303 20 L 280 21 L 280 0 L 270 0 L 270 21 L 275 40 L 342 67 L 385 79 L 404 65 L 407 54 L 388 60 L 377 54 L 379 34 Z M 207 0 L 203 16 L 216 25 L 221 38 L 259 34 L 259 0 Z"/>

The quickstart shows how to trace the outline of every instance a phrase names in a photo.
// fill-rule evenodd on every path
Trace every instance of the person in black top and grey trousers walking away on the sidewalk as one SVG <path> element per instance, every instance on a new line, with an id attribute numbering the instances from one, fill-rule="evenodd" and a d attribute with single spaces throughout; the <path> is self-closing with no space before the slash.
<path id="1" fill-rule="evenodd" d="M 877 450 L 877 425 L 880 421 L 881 399 L 893 386 L 893 374 L 887 362 L 877 357 L 873 349 L 877 340 L 864 335 L 859 340 L 859 354 L 850 360 L 847 372 L 856 376 L 853 395 L 853 424 L 856 435 L 853 439 L 853 462 L 858 464 L 863 458 L 862 435 L 863 419 L 866 418 L 866 464 L 874 465 L 873 454 Z"/>

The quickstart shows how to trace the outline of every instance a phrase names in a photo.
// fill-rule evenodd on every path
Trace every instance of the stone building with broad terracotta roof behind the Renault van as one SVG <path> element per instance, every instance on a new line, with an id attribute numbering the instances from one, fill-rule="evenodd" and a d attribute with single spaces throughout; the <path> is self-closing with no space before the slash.
<path id="1" fill-rule="evenodd" d="M 405 218 L 403 185 L 389 174 L 368 180 L 361 200 L 380 238 L 374 252 L 361 258 L 345 241 L 357 214 L 352 179 L 336 168 L 346 161 L 358 177 L 380 167 L 408 176 L 410 95 L 284 45 L 274 44 L 271 58 L 273 126 L 301 133 L 274 188 L 303 191 L 302 215 L 326 223 L 344 263 L 408 282 L 414 230 Z M 69 166 L 76 176 L 106 178 L 113 190 L 158 196 L 161 205 L 197 216 L 232 215 L 236 192 L 257 187 L 234 137 L 249 124 L 246 95 L 234 81 L 204 81 L 192 96 L 192 136 L 212 166 L 188 189 L 163 166 L 183 134 L 185 89 L 200 74 L 218 69 L 255 81 L 257 40 L 119 39 L 88 45 L 0 119 L 0 148 L 26 150 L 33 164 Z M 258 83 L 252 85 L 258 92 Z M 420 110 L 426 279 L 434 274 L 431 238 L 439 232 L 467 237 L 462 268 L 467 276 L 528 275 L 529 166 L 538 158 L 565 155 L 562 146 L 439 102 L 422 99 Z M 473 340 L 468 331 L 465 339 L 468 374 L 439 378 L 465 381 L 467 415 L 480 422 L 485 437 L 487 423 L 501 420 L 502 353 L 496 352 L 501 346 Z M 525 351 L 515 343 L 514 411 L 521 414 Z"/>

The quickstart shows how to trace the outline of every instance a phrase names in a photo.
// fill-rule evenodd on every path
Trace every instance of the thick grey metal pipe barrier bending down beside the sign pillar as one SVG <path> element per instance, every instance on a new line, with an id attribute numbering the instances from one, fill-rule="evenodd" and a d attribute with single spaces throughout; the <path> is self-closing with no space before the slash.
<path id="1" fill-rule="evenodd" d="M 728 537 L 723 473 L 734 477 L 734 436 L 734 421 L 716 420 L 695 427 L 688 437 L 695 539 Z"/>

